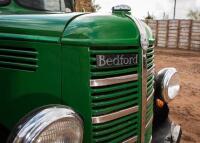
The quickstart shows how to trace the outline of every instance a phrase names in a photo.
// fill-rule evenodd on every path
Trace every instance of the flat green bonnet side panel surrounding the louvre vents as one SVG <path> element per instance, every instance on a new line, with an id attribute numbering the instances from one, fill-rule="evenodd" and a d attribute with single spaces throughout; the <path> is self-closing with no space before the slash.
<path id="1" fill-rule="evenodd" d="M 35 48 L 39 53 L 36 72 L 0 69 L 0 122 L 12 129 L 34 108 L 61 102 L 60 45 L 2 39 L 0 43 L 1 48 Z"/>

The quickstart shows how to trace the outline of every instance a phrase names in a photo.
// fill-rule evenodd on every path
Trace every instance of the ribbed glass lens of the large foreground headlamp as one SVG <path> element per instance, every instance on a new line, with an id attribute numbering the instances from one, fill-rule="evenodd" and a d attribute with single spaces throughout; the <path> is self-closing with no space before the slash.
<path id="1" fill-rule="evenodd" d="M 35 143 L 81 143 L 81 126 L 74 118 L 58 120 L 42 131 Z"/>

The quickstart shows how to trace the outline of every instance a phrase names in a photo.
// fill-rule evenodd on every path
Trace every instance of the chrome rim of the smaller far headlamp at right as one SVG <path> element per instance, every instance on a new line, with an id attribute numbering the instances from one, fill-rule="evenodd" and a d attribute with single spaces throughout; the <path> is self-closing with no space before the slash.
<path id="1" fill-rule="evenodd" d="M 171 100 L 173 100 L 177 95 L 170 97 L 169 95 L 169 86 L 170 86 L 170 81 L 175 77 L 178 76 L 178 72 L 175 68 L 164 68 L 158 72 L 158 81 L 161 84 L 161 94 L 162 98 L 166 103 L 169 103 Z M 179 81 L 177 81 L 179 82 Z M 180 84 L 178 83 L 179 86 L 179 91 L 180 91 Z M 178 91 L 178 92 L 179 92 Z"/>

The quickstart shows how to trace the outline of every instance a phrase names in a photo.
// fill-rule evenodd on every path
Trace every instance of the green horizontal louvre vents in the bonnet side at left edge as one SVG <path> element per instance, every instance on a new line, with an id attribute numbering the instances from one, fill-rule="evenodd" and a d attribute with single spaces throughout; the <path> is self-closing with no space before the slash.
<path id="1" fill-rule="evenodd" d="M 0 47 L 0 68 L 34 72 L 37 54 L 33 48 Z"/>

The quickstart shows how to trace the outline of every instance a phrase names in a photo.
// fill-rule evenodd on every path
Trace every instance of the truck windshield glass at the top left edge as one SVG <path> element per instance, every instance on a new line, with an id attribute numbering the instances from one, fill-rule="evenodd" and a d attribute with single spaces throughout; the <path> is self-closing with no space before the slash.
<path id="1" fill-rule="evenodd" d="M 56 11 L 56 12 L 73 11 L 72 0 L 16 0 L 16 1 L 21 6 L 34 10 Z"/>

